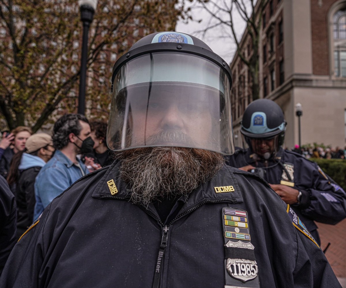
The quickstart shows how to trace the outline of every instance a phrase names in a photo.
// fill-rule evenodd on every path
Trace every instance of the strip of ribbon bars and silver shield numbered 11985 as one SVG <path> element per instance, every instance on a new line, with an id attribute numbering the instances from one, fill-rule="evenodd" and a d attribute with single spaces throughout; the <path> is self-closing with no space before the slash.
<path id="1" fill-rule="evenodd" d="M 224 207 L 222 222 L 225 239 L 225 288 L 260 287 L 247 212 Z"/>

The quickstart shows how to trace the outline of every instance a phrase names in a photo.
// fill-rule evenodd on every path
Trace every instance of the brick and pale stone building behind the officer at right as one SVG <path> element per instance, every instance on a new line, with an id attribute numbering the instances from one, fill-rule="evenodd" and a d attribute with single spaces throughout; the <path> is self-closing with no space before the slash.
<path id="1" fill-rule="evenodd" d="M 346 1 L 262 0 L 255 13 L 260 25 L 258 44 L 260 98 L 278 103 L 288 122 L 284 146 L 299 143 L 295 105 L 302 104 L 301 144 L 346 145 Z M 251 55 L 245 32 L 241 51 Z M 248 68 L 236 55 L 233 124 L 236 146 L 242 146 L 240 121 L 252 101 Z"/>

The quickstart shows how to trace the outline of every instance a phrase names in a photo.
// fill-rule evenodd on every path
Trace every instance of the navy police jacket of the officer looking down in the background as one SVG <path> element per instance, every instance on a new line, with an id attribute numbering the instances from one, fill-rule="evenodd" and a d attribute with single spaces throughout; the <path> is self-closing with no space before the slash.
<path id="1" fill-rule="evenodd" d="M 289 181 L 286 170 L 291 174 Z M 249 149 L 238 149 L 228 156 L 226 163 L 229 166 L 240 168 L 251 164 L 254 167 L 264 167 L 264 163 L 257 163 L 251 158 Z M 285 183 L 293 185 L 292 188 L 302 192 L 300 204 L 291 205 L 299 218 L 310 231 L 316 242 L 320 244 L 317 225 L 314 221 L 335 225 L 346 217 L 346 193 L 333 183 L 332 179 L 321 170 L 317 163 L 304 158 L 304 156 L 290 150 L 280 150 L 275 161 L 268 161 L 268 168 L 263 179 L 270 184 Z M 283 182 L 282 182 L 283 181 Z"/>

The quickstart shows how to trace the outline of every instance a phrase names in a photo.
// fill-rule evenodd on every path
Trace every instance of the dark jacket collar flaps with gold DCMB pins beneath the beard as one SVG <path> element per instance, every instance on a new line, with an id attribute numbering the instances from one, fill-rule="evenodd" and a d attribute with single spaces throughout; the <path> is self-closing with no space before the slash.
<path id="1" fill-rule="evenodd" d="M 92 197 L 130 201 L 131 190 L 127 188 L 126 183 L 120 177 L 120 164 L 120 161 L 113 162 L 101 181 L 99 181 Z M 197 189 L 193 190 L 179 214 L 204 203 L 243 202 L 238 181 L 231 169 L 231 167 L 224 165 L 211 180 L 202 183 Z M 157 214 L 153 204 L 149 204 L 146 209 Z"/>

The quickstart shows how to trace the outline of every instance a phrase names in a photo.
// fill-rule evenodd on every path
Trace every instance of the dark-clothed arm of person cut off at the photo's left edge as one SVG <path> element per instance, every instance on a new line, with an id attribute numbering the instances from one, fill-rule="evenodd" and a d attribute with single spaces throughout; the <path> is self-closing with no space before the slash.
<path id="1" fill-rule="evenodd" d="M 17 208 L 15 196 L 5 178 L 0 176 L 0 276 L 16 244 Z"/>

